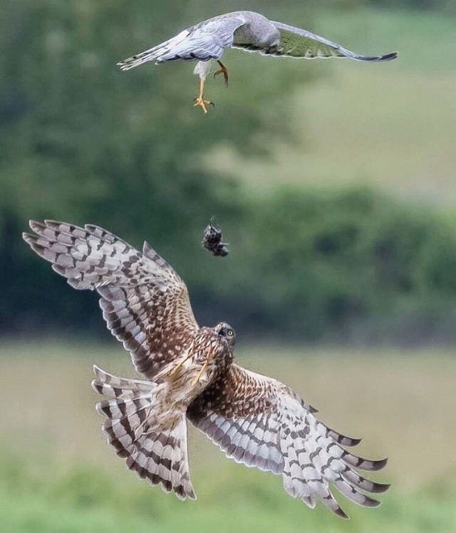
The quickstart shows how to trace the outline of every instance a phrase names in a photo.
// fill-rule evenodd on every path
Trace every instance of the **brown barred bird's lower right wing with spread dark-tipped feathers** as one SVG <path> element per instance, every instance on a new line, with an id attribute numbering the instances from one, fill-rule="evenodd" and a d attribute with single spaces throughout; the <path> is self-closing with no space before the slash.
<path id="1" fill-rule="evenodd" d="M 380 502 L 363 494 L 389 485 L 371 482 L 353 470 L 379 470 L 386 460 L 371 461 L 343 449 L 351 439 L 327 428 L 315 410 L 283 383 L 233 365 L 199 395 L 187 417 L 219 445 L 227 457 L 250 467 L 281 474 L 284 488 L 309 507 L 316 501 L 341 517 L 330 483 L 344 496 L 367 507 Z"/>

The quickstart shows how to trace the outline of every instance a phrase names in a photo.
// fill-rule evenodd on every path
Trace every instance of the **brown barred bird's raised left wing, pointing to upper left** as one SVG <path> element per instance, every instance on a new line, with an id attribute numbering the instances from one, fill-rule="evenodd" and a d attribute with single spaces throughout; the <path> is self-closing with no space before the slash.
<path id="1" fill-rule="evenodd" d="M 100 227 L 30 222 L 24 240 L 75 289 L 95 289 L 111 333 L 152 378 L 198 329 L 185 283 L 145 242 L 142 253 Z"/>

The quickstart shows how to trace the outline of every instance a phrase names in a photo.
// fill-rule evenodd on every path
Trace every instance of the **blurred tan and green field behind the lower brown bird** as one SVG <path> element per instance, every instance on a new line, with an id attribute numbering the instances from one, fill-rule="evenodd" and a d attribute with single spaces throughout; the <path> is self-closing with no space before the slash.
<path id="1" fill-rule="evenodd" d="M 456 527 L 456 360 L 451 353 L 353 353 L 239 348 L 239 361 L 292 385 L 361 455 L 388 455 L 379 509 L 326 509 L 292 500 L 279 477 L 227 460 L 190 432 L 197 502 L 136 479 L 100 433 L 91 366 L 133 376 L 113 341 L 0 348 L 0 523 L 5 532 L 434 532 Z M 273 357 L 274 356 L 274 357 Z M 339 499 L 341 502 L 343 498 Z"/>

